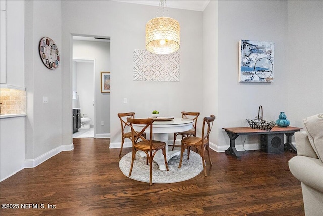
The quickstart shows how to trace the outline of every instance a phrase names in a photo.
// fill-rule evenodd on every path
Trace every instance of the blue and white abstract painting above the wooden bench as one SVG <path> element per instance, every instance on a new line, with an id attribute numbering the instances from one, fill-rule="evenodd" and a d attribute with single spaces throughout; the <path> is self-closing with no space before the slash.
<path id="1" fill-rule="evenodd" d="M 274 81 L 274 43 L 240 40 L 239 82 Z"/>

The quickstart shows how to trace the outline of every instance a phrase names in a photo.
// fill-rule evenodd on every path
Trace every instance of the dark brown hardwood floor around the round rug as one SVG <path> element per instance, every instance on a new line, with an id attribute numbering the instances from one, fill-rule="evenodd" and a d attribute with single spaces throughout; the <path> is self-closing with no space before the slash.
<path id="1" fill-rule="evenodd" d="M 149 186 L 122 174 L 120 149 L 109 149 L 109 139 L 73 143 L 73 151 L 2 181 L 0 203 L 19 209 L 0 215 L 304 215 L 300 182 L 288 168 L 292 152 L 246 152 L 237 160 L 211 151 L 207 177 Z"/>

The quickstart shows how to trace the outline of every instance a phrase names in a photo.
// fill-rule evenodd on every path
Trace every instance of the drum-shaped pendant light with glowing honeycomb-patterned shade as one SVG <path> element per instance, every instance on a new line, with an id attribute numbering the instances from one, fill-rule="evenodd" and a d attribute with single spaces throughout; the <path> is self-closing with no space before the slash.
<path id="1" fill-rule="evenodd" d="M 160 0 L 161 16 L 146 24 L 146 49 L 156 54 L 170 54 L 180 49 L 180 24 L 164 16 L 165 7 L 167 9 L 166 0 Z"/>

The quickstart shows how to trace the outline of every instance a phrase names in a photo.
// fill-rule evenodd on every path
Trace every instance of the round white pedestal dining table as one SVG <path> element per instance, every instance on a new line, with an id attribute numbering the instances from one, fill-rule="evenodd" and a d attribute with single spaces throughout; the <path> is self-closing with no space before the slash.
<path id="1" fill-rule="evenodd" d="M 188 118 L 174 118 L 162 120 L 163 118 L 153 118 L 155 121 L 152 126 L 153 139 L 162 141 L 166 143 L 166 160 L 169 161 L 172 157 L 180 155 L 181 151 L 179 150 L 168 150 L 168 134 L 183 132 L 192 129 L 193 120 Z M 133 125 L 136 131 L 141 131 L 145 125 Z M 146 129 L 146 132 L 150 132 L 150 128 Z M 140 156 L 146 157 L 147 155 L 144 152 L 140 153 Z M 153 160 L 159 165 L 160 170 L 166 170 L 164 155 L 162 151 L 158 151 L 154 156 Z"/>

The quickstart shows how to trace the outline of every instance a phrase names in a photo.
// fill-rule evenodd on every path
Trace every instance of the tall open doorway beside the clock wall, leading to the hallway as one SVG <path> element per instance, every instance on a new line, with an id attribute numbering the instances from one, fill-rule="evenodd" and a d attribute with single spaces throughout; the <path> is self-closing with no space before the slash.
<path id="1" fill-rule="evenodd" d="M 78 68 L 80 70 L 83 70 L 85 67 L 93 68 L 93 76 L 88 77 L 87 82 L 83 84 L 84 87 L 91 83 L 93 87 L 91 87 L 91 89 L 88 89 L 90 87 L 87 87 L 88 90 L 85 93 L 82 93 L 82 95 L 93 93 L 93 95 L 87 96 L 87 100 L 90 100 L 90 102 L 87 102 L 87 106 L 90 104 L 94 110 L 92 115 L 93 119 L 89 116 L 91 115 L 89 114 L 90 111 L 87 111 L 82 107 L 81 117 L 85 114 L 87 115 L 85 117 L 91 118 L 94 138 L 110 138 L 110 92 L 101 90 L 102 72 L 110 72 L 110 37 L 72 35 L 72 38 L 73 73 L 75 73 L 74 68 L 77 68 L 77 66 L 79 66 Z M 92 62 L 94 62 L 94 64 L 92 64 L 93 66 L 86 65 Z M 73 78 L 73 85 L 74 82 L 75 80 Z M 82 90 L 83 89 L 80 90 L 79 86 L 78 90 L 73 89 L 78 95 L 80 95 L 80 91 Z M 73 94 L 75 93 L 73 92 Z M 76 105 L 77 108 L 80 106 L 82 106 L 81 102 L 79 106 L 78 104 Z M 75 102 L 72 107 L 75 107 Z"/>

